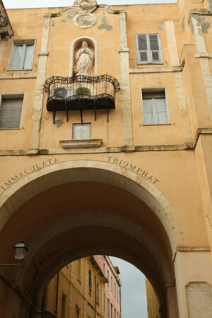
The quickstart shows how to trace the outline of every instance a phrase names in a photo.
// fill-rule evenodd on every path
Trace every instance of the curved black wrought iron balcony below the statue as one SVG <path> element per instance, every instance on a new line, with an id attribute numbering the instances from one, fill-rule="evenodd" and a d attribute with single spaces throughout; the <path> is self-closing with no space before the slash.
<path id="1" fill-rule="evenodd" d="M 45 82 L 45 90 L 48 92 L 47 110 L 53 113 L 53 123 L 57 111 L 65 110 L 67 122 L 70 110 L 81 112 L 83 122 L 83 110 L 107 110 L 107 122 L 109 110 L 115 108 L 115 93 L 119 90 L 119 82 L 110 75 L 72 77 L 52 76 Z"/>

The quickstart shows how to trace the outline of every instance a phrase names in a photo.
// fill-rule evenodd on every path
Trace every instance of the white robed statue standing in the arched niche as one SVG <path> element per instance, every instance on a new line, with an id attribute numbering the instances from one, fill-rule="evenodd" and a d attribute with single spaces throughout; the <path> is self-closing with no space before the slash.
<path id="1" fill-rule="evenodd" d="M 83 41 L 81 49 L 76 52 L 76 64 L 74 67 L 74 73 L 76 75 L 89 76 L 90 70 L 93 66 L 93 52 L 88 47 L 88 42 Z"/>

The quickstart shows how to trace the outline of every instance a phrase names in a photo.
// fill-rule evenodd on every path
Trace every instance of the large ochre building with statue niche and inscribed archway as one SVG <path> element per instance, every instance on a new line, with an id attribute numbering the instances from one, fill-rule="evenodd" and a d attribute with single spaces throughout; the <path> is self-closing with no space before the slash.
<path id="1" fill-rule="evenodd" d="M 143 271 L 161 317 L 211 317 L 211 9 L 1 3 L 1 264 L 28 247 L 0 270 L 1 317 L 40 318 L 95 254 Z"/>

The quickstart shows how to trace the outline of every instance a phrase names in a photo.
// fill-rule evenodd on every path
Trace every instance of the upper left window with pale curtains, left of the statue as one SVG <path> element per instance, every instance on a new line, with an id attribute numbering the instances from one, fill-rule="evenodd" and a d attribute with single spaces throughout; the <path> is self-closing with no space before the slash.
<path id="1" fill-rule="evenodd" d="M 8 70 L 33 69 L 35 40 L 13 40 Z"/>

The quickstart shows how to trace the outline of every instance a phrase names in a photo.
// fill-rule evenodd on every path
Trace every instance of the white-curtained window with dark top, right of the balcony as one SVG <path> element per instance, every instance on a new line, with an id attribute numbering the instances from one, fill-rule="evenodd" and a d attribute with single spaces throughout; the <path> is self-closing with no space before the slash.
<path id="1" fill-rule="evenodd" d="M 142 90 L 143 124 L 169 124 L 169 114 L 165 89 Z"/>

